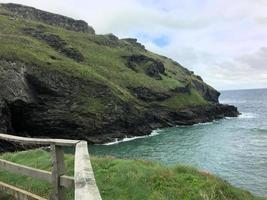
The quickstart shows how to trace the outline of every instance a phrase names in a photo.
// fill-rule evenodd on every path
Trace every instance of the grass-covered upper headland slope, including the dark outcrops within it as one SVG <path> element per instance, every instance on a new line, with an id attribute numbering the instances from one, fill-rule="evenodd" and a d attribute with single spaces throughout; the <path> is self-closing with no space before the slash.
<path id="1" fill-rule="evenodd" d="M 162 97 L 160 104 L 175 109 L 205 104 L 205 90 L 213 91 L 177 62 L 147 51 L 133 39 L 73 31 L 20 12 L 16 5 L 0 5 L 0 58 L 93 80 L 107 85 L 122 99 L 141 104 L 147 102 L 136 98 L 133 88 L 170 95 L 170 99 Z M 203 91 L 197 89 L 198 84 L 203 85 Z M 188 93 L 171 92 L 186 86 L 190 86 Z M 88 110 L 101 111 L 102 104 L 95 100 Z"/>

